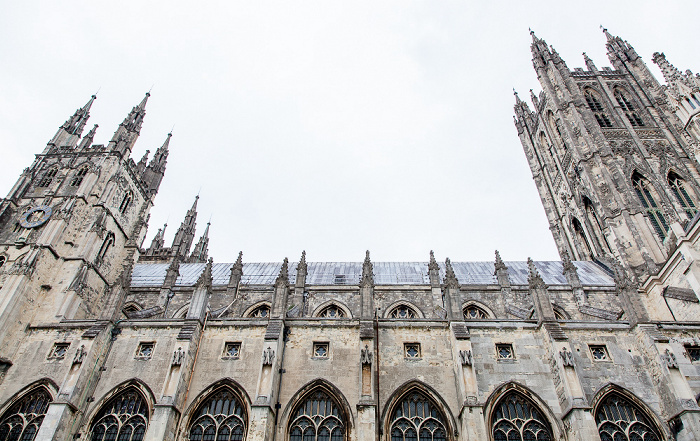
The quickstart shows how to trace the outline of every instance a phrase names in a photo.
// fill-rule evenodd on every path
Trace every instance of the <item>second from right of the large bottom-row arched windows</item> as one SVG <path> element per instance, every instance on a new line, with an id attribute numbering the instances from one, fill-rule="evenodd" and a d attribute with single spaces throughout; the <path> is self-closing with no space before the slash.
<path id="1" fill-rule="evenodd" d="M 498 402 L 492 419 L 494 441 L 552 441 L 552 428 L 535 403 L 518 392 Z"/>

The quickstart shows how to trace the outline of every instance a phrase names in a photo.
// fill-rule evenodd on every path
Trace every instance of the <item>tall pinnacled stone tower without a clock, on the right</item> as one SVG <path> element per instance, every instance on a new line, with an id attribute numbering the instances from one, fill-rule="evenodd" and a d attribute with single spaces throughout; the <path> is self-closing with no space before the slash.
<path id="1" fill-rule="evenodd" d="M 697 213 L 694 142 L 634 48 L 604 30 L 613 66 L 569 70 L 532 34 L 542 92 L 515 125 L 562 259 L 655 273 Z"/>

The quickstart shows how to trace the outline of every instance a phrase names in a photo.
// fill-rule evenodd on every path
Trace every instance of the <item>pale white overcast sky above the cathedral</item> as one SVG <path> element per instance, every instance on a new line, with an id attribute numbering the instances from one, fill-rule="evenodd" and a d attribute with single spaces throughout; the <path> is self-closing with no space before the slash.
<path id="1" fill-rule="evenodd" d="M 575 5 L 569 7 L 565 5 Z M 232 262 L 558 260 L 513 125 L 540 90 L 528 28 L 608 66 L 603 24 L 650 68 L 700 71 L 700 2 L 4 2 L 0 193 L 98 89 L 106 144 L 151 89 L 133 156 L 174 125 L 147 246 L 200 193 Z"/>

